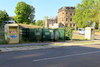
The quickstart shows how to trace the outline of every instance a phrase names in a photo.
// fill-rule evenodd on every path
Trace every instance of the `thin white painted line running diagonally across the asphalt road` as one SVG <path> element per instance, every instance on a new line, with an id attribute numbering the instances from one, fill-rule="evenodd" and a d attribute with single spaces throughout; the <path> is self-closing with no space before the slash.
<path id="1" fill-rule="evenodd" d="M 71 55 L 58 56 L 58 57 L 50 57 L 50 58 L 43 58 L 43 59 L 36 59 L 36 60 L 33 60 L 33 62 L 52 60 L 52 59 L 59 59 L 59 58 L 64 58 L 64 57 L 81 56 L 81 55 L 94 54 L 94 53 L 100 53 L 100 51 L 80 53 L 80 54 L 71 54 Z"/>

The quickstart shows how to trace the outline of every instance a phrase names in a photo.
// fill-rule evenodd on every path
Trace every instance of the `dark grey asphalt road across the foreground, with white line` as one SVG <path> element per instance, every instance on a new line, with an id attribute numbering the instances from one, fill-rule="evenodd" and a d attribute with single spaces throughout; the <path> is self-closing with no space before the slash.
<path id="1" fill-rule="evenodd" d="M 100 49 L 71 46 L 0 53 L 0 67 L 100 67 Z"/>

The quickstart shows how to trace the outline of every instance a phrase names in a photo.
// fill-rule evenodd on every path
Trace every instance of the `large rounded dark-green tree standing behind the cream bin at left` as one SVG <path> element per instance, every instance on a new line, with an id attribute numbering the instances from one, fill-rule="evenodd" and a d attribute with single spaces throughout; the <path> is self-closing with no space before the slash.
<path id="1" fill-rule="evenodd" d="M 21 1 L 17 4 L 15 13 L 16 16 L 14 19 L 17 23 L 27 22 L 27 24 L 29 24 L 30 22 L 33 22 L 35 16 L 35 8 Z"/>

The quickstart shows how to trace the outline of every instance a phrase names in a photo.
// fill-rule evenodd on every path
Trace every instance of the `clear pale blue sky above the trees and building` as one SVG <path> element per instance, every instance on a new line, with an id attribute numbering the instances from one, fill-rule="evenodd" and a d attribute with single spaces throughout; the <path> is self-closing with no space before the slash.
<path id="1" fill-rule="evenodd" d="M 42 20 L 44 16 L 56 17 L 58 9 L 64 6 L 76 6 L 82 0 L 0 0 L 0 10 L 6 10 L 9 16 L 15 16 L 16 4 L 24 1 L 35 8 L 35 19 Z"/>

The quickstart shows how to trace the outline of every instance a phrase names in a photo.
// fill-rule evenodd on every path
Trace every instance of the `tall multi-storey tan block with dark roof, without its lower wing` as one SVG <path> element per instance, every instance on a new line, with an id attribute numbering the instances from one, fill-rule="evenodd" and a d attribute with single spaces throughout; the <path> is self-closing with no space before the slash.
<path id="1" fill-rule="evenodd" d="M 72 21 L 75 15 L 75 7 L 62 7 L 58 10 L 58 23 L 61 27 L 73 27 L 76 29 L 76 24 Z"/>

